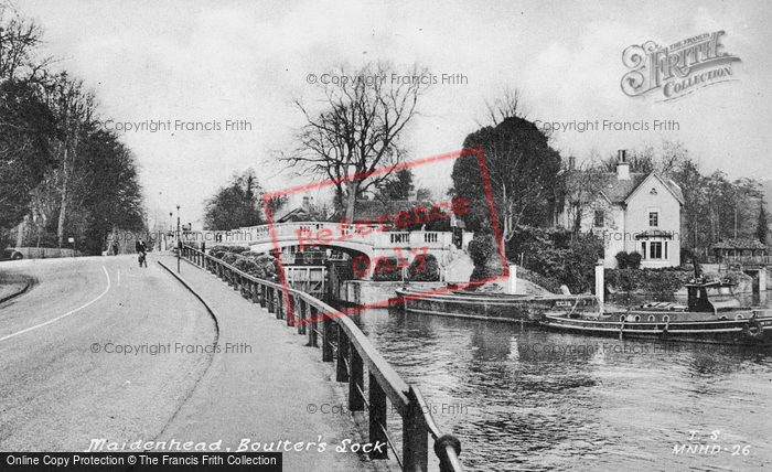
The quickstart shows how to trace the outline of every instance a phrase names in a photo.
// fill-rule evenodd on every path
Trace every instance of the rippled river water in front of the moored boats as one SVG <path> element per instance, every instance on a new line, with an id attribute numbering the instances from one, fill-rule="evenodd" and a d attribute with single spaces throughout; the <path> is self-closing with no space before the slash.
<path id="1" fill-rule="evenodd" d="M 468 471 L 772 471 L 771 350 L 355 319 L 461 439 Z"/>

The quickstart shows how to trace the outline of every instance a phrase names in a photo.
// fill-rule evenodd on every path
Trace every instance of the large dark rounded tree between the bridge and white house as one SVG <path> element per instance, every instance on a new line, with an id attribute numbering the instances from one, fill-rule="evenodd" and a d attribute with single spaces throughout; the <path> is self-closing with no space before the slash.
<path id="1" fill-rule="evenodd" d="M 548 225 L 560 187 L 560 155 L 536 126 L 523 118 L 506 118 L 495 127 L 467 137 L 464 149 L 481 148 L 490 179 L 502 238 L 508 242 L 519 224 Z M 472 211 L 468 226 L 480 230 L 490 224 L 483 176 L 474 153 L 453 163 L 453 193 L 465 199 Z"/>

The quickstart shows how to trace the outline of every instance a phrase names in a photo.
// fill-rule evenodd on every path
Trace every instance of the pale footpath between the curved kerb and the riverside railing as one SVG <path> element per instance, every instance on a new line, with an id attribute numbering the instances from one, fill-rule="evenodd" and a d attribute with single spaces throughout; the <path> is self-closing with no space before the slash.
<path id="1" fill-rule="evenodd" d="M 176 271 L 173 257 L 159 261 Z M 223 449 L 232 452 L 239 446 L 256 452 L 281 450 L 285 471 L 374 468 L 356 453 L 336 451 L 346 439 L 362 439 L 347 412 L 321 411 L 346 405 L 334 388 L 331 365 L 321 362 L 321 351 L 305 346 L 305 336 L 215 276 L 185 260 L 181 264 L 181 278 L 217 318 L 221 352 L 158 440 L 222 439 Z M 323 452 L 320 443 L 326 443 Z"/>

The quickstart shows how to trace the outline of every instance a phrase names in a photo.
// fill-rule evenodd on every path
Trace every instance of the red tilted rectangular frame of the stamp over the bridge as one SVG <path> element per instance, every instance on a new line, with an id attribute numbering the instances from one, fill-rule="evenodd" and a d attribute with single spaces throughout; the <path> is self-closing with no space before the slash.
<path id="1" fill-rule="evenodd" d="M 448 293 L 448 292 L 455 291 L 455 290 L 461 290 L 461 289 L 471 288 L 471 287 L 480 287 L 480 286 L 483 286 L 485 283 L 508 279 L 510 266 L 508 266 L 507 260 L 506 260 L 506 254 L 504 253 L 504 243 L 502 240 L 501 229 L 498 226 L 498 217 L 496 215 L 496 208 L 495 208 L 495 204 L 493 202 L 493 191 L 491 190 L 491 180 L 490 180 L 490 176 L 487 174 L 487 168 L 485 165 L 485 155 L 483 154 L 483 151 L 481 148 L 463 149 L 461 151 L 453 151 L 453 152 L 448 152 L 444 154 L 438 154 L 438 155 L 432 155 L 429 158 L 418 159 L 418 160 L 410 161 L 410 162 L 403 162 L 403 163 L 399 163 L 396 165 L 389 165 L 389 167 L 376 169 L 376 170 L 371 171 L 371 172 L 361 172 L 361 173 L 357 173 L 353 178 L 350 178 L 350 179 L 352 179 L 352 180 L 353 179 L 366 179 L 366 178 L 372 176 L 372 175 L 380 175 L 380 174 L 388 173 L 392 171 L 399 171 L 403 169 L 411 169 L 411 168 L 415 168 L 415 167 L 418 167 L 421 164 L 441 162 L 441 161 L 451 160 L 451 159 L 458 159 L 462 155 L 468 155 L 468 154 L 476 154 L 476 157 L 478 157 L 478 163 L 480 165 L 480 174 L 482 176 L 483 186 L 485 187 L 485 199 L 487 200 L 487 210 L 489 210 L 490 215 L 491 215 L 491 224 L 493 226 L 493 234 L 494 234 L 495 240 L 496 240 L 497 246 L 498 246 L 498 257 L 500 257 L 504 273 L 501 276 L 489 277 L 489 278 L 482 279 L 482 280 L 475 280 L 473 282 L 457 283 L 457 285 L 453 285 L 451 287 L 442 287 L 442 288 L 439 288 L 436 290 L 430 290 L 427 292 L 398 297 L 396 299 L 387 299 L 384 301 L 368 303 L 368 304 L 361 305 L 361 307 L 347 308 L 347 309 L 335 311 L 334 313 L 321 313 L 321 314 L 317 314 L 315 317 L 311 317 L 311 318 L 302 320 L 303 323 L 311 323 L 314 321 L 321 321 L 321 320 L 324 320 L 325 318 L 349 315 L 349 314 L 357 313 L 362 310 L 367 310 L 371 308 L 387 308 L 390 304 L 401 303 L 401 302 L 405 302 L 407 300 L 416 300 L 416 299 L 421 298 L 422 296 Z M 285 268 L 283 268 L 283 265 L 281 262 L 281 248 L 279 247 L 279 240 L 278 240 L 277 235 L 276 235 L 276 228 L 274 226 L 274 218 L 272 218 L 270 205 L 268 204 L 268 202 L 270 201 L 270 199 L 274 199 L 277 196 L 291 195 L 291 194 L 299 193 L 299 192 L 307 192 L 307 191 L 313 190 L 313 189 L 321 189 L 323 186 L 334 185 L 339 182 L 345 182 L 347 179 L 349 178 L 328 179 L 328 180 L 322 181 L 322 182 L 314 182 L 314 183 L 309 183 L 309 184 L 303 184 L 303 185 L 296 185 L 296 186 L 292 186 L 292 187 L 289 187 L 286 190 L 281 190 L 281 191 L 268 192 L 268 193 L 265 193 L 262 195 L 262 206 L 264 206 L 265 212 L 266 212 L 266 219 L 268 221 L 268 227 L 269 227 L 269 232 L 271 235 L 271 242 L 274 243 L 274 251 L 278 255 L 278 257 L 276 258 L 277 265 L 278 265 L 277 272 L 279 275 L 279 280 L 281 281 L 281 288 L 282 288 L 283 298 L 285 298 L 285 305 L 287 307 L 287 317 L 288 317 L 289 324 L 291 326 L 297 326 L 300 323 L 298 321 L 296 321 L 296 319 L 294 319 L 294 311 L 292 308 L 292 297 L 290 297 L 290 294 L 289 294 L 290 287 L 287 283 L 287 277 L 285 276 Z"/>

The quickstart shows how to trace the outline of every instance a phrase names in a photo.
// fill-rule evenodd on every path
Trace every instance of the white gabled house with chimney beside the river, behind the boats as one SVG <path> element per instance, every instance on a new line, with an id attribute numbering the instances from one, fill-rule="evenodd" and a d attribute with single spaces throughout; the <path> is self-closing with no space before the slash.
<path id="1" fill-rule="evenodd" d="M 615 268 L 621 251 L 641 254 L 642 268 L 680 265 L 684 195 L 675 182 L 655 172 L 630 172 L 626 153 L 620 150 L 616 172 L 598 174 L 592 195 L 585 200 L 581 208 L 567 205 L 558 224 L 571 228 L 576 214 L 581 215 L 580 229 L 604 240 L 605 267 Z"/>

